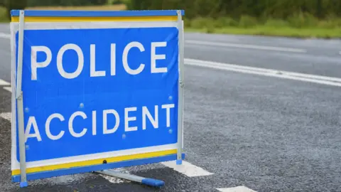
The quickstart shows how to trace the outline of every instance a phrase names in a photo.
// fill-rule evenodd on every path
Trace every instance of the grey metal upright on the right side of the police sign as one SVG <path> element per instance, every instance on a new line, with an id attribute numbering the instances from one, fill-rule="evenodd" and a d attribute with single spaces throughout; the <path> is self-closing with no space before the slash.
<path id="1" fill-rule="evenodd" d="M 178 95 L 178 152 L 176 164 L 183 164 L 183 18 L 178 10 L 178 31 L 179 31 L 179 95 Z"/>

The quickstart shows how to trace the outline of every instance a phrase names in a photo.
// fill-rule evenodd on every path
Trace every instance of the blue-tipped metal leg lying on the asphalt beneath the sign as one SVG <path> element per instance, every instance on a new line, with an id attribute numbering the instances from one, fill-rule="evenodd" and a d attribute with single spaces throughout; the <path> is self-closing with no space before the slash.
<path id="1" fill-rule="evenodd" d="M 117 178 L 123 178 L 129 181 L 134 181 L 137 183 L 142 183 L 145 184 L 147 186 L 154 186 L 154 187 L 162 187 L 165 185 L 164 181 L 160 181 L 154 178 L 144 178 L 141 176 L 134 176 L 131 174 L 124 174 L 124 173 L 120 173 L 118 171 L 112 171 L 112 170 L 104 170 L 104 171 L 95 171 L 97 174 L 104 174 L 107 176 L 114 176 Z"/>

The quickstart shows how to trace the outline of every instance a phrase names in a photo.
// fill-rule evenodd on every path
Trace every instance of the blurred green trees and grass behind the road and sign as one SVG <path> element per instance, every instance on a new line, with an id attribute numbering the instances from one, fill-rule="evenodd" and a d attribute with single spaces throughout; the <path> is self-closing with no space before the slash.
<path id="1" fill-rule="evenodd" d="M 296 37 L 341 37 L 341 0 L 0 0 L 11 9 L 184 9 L 186 30 Z"/>

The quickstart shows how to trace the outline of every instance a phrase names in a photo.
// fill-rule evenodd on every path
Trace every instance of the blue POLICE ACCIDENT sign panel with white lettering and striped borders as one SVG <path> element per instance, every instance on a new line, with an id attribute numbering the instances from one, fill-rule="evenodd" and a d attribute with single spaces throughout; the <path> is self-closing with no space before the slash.
<path id="1" fill-rule="evenodd" d="M 18 11 L 12 16 L 12 178 L 19 181 Z M 25 21 L 28 180 L 176 159 L 183 41 L 176 11 L 26 11 Z"/>

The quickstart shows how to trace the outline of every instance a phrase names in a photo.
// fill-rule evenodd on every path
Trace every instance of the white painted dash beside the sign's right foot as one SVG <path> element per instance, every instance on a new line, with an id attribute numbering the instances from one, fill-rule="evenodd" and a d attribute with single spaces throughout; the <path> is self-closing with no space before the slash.
<path id="1" fill-rule="evenodd" d="M 168 166 L 174 171 L 178 171 L 181 174 L 185 174 L 186 176 L 193 177 L 193 176 L 210 176 L 212 173 L 202 169 L 199 166 L 195 166 L 193 164 L 188 163 L 187 161 L 183 161 L 182 165 L 177 165 L 175 161 L 166 161 L 162 162 L 164 166 Z"/>

